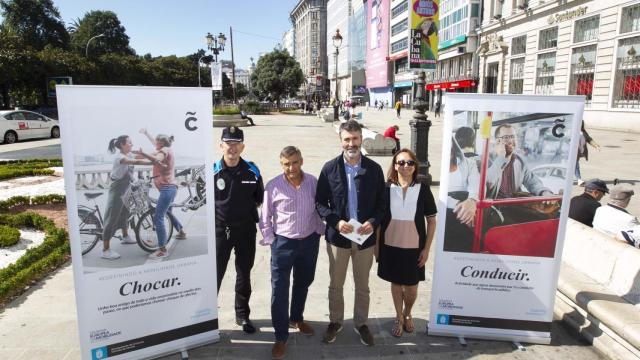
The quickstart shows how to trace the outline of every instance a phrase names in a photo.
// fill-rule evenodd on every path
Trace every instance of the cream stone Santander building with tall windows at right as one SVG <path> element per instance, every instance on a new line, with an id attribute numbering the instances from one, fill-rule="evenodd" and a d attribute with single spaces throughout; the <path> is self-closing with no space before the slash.
<path id="1" fill-rule="evenodd" d="M 640 132 L 640 0 L 485 1 L 479 92 L 581 95 L 590 126 Z"/>

